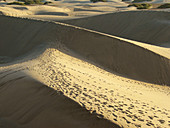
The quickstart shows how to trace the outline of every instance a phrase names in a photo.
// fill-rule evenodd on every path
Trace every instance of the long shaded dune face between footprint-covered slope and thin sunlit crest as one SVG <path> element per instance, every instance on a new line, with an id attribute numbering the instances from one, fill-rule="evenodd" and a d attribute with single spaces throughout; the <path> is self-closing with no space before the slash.
<path id="1" fill-rule="evenodd" d="M 170 84 L 169 59 L 129 42 L 60 23 L 5 16 L 1 21 L 1 56 L 23 55 L 40 43 L 57 40 L 104 69 L 145 82 Z"/>

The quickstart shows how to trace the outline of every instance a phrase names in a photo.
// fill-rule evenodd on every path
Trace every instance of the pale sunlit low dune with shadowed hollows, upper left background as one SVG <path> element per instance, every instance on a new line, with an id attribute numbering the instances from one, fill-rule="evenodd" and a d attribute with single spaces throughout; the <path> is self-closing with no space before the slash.
<path id="1" fill-rule="evenodd" d="M 19 6 L 19 5 L 5 5 L 0 7 L 0 12 L 9 16 L 38 16 L 38 15 L 55 15 L 68 16 L 72 9 L 53 7 L 53 6 Z"/>

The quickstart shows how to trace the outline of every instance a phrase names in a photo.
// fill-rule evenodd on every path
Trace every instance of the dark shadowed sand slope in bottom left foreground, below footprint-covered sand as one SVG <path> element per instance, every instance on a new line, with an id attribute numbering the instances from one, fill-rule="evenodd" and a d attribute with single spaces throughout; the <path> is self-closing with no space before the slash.
<path id="1" fill-rule="evenodd" d="M 15 78 L 0 81 L 0 127 L 119 128 L 42 83 L 14 74 Z"/>

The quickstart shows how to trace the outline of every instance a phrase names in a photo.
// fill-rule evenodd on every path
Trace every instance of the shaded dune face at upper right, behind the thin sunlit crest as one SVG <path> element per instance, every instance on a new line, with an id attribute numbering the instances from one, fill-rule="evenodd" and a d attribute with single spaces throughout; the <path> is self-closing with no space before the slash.
<path id="1" fill-rule="evenodd" d="M 154 45 L 170 44 L 169 12 L 127 11 L 62 21 Z"/>

